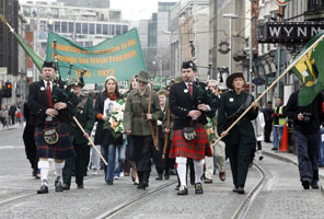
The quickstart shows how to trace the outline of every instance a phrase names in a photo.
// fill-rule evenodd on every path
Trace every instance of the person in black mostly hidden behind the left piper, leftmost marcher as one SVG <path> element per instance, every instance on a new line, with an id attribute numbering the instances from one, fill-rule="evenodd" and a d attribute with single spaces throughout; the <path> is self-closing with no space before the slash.
<path id="1" fill-rule="evenodd" d="M 26 157 L 32 165 L 33 169 L 33 173 L 32 175 L 35 178 L 40 178 L 39 175 L 39 171 L 38 171 L 38 154 L 37 154 L 37 148 L 36 148 L 36 143 L 35 143 L 35 139 L 34 139 L 34 135 L 35 135 L 35 126 L 31 125 L 30 122 L 30 108 L 27 103 L 24 104 L 24 117 L 26 118 L 26 126 L 24 128 L 24 132 L 23 132 L 23 140 L 24 140 L 24 145 L 25 145 L 25 152 L 26 152 Z"/>

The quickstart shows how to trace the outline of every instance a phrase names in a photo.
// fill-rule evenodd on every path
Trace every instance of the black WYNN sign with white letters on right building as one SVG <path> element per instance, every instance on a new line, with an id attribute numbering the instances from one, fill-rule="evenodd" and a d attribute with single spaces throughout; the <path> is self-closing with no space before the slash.
<path id="1" fill-rule="evenodd" d="M 267 22 L 257 26 L 258 43 L 306 43 L 321 31 L 324 23 Z"/>

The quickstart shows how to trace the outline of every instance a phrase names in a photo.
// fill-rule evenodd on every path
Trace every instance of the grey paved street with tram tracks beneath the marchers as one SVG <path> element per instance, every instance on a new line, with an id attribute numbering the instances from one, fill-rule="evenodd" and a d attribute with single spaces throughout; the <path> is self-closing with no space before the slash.
<path id="1" fill-rule="evenodd" d="M 150 186 L 139 191 L 129 176 L 108 186 L 104 173 L 85 177 L 84 189 L 72 183 L 70 191 L 54 191 L 54 171 L 49 173 L 49 194 L 37 195 L 39 180 L 32 177 L 25 158 L 22 128 L 0 131 L 0 218 L 232 218 L 262 175 L 256 166 L 250 169 L 246 194 L 231 192 L 233 185 L 229 162 L 227 181 L 213 176 L 212 184 L 204 184 L 204 195 L 180 197 L 170 181 L 155 181 L 152 171 Z M 265 172 L 265 183 L 256 194 L 245 218 L 314 218 L 324 215 L 321 191 L 303 191 L 294 164 L 265 155 L 255 161 Z M 154 166 L 152 166 L 154 170 Z M 321 182 L 320 182 L 321 183 Z"/>

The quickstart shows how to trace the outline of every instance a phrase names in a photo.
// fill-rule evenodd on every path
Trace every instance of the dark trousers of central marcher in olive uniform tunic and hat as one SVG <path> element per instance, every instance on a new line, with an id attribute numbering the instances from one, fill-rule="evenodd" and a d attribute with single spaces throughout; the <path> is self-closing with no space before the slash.
<path id="1" fill-rule="evenodd" d="M 153 140 L 151 136 L 131 136 L 134 143 L 134 159 L 140 180 L 148 180 L 151 173 L 151 158 Z"/>

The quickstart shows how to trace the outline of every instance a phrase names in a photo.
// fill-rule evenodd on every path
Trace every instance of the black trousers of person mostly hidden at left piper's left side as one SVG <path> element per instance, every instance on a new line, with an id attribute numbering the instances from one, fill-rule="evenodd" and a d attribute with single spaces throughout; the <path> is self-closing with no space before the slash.
<path id="1" fill-rule="evenodd" d="M 38 169 L 38 155 L 37 155 L 37 148 L 34 140 L 35 127 L 26 125 L 24 132 L 23 132 L 23 140 L 25 145 L 25 152 L 26 157 L 32 165 L 32 169 L 35 171 Z"/>

